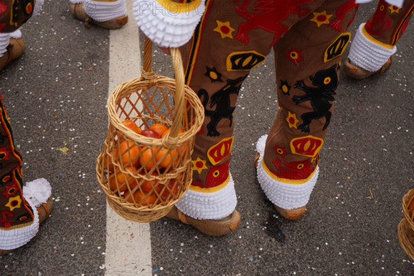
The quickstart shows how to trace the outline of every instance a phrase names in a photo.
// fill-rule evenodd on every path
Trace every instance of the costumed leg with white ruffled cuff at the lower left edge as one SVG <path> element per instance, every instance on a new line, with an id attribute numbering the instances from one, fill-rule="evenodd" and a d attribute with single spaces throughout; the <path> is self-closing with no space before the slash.
<path id="1" fill-rule="evenodd" d="M 48 201 L 51 188 L 45 179 L 30 182 L 23 188 L 21 155 L 14 148 L 10 121 L 1 97 L 0 123 L 1 253 L 2 250 L 23 246 L 37 234 L 39 230 L 37 207 Z"/>

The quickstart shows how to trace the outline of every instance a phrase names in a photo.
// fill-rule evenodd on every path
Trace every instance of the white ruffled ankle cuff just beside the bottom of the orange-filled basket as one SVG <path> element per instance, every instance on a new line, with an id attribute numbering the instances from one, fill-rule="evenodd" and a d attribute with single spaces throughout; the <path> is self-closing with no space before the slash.
<path id="1" fill-rule="evenodd" d="M 188 190 L 175 204 L 182 213 L 193 219 L 222 219 L 227 217 L 237 205 L 235 183 L 230 175 L 228 184 L 214 193 L 200 193 Z"/>

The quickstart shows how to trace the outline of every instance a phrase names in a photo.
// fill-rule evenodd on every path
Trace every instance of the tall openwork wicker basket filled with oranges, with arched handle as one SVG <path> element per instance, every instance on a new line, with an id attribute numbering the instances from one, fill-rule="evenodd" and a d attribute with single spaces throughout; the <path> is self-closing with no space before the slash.
<path id="1" fill-rule="evenodd" d="M 191 154 L 204 121 L 204 108 L 184 85 L 181 54 L 171 49 L 175 79 L 152 72 L 152 43 L 146 38 L 141 77 L 121 83 L 108 99 L 109 127 L 97 158 L 97 179 L 109 206 L 125 219 L 138 222 L 164 217 L 192 181 Z M 168 135 L 139 135 L 122 124 L 141 129 L 154 124 Z"/>

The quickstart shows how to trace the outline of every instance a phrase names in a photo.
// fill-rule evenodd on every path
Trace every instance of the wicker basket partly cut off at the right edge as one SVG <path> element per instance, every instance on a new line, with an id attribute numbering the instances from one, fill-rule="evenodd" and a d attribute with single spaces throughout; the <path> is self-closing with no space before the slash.
<path id="1" fill-rule="evenodd" d="M 402 198 L 404 218 L 398 224 L 398 239 L 400 239 L 400 244 L 404 251 L 414 261 L 414 207 L 409 208 L 413 200 L 414 189 L 409 190 Z"/>

